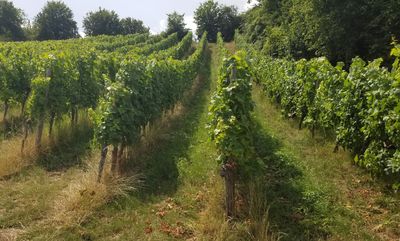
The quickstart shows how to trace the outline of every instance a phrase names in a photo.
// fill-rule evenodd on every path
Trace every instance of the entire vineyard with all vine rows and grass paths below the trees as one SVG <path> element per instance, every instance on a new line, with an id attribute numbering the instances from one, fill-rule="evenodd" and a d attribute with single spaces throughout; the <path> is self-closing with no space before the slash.
<path id="1" fill-rule="evenodd" d="M 0 241 L 397 240 L 400 47 L 214 37 L 1 43 Z"/>

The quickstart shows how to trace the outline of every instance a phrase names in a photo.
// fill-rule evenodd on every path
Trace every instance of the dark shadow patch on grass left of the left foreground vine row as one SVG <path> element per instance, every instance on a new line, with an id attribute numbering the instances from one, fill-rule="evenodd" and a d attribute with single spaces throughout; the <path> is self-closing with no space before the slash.
<path id="1" fill-rule="evenodd" d="M 78 123 L 75 130 L 62 126 L 58 129 L 54 142 L 37 158 L 37 164 L 47 171 L 63 171 L 83 164 L 90 151 L 93 129 L 85 120 Z M 43 133 L 46 135 L 47 133 Z"/>

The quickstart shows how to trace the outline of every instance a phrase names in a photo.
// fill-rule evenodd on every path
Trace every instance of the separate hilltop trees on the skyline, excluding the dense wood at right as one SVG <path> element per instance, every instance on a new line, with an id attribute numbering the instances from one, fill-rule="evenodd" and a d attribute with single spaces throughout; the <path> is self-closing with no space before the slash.
<path id="1" fill-rule="evenodd" d="M 222 5 L 213 0 L 200 4 L 194 15 L 198 26 L 198 38 L 200 39 L 204 32 L 208 32 L 210 42 L 216 41 L 218 32 L 222 33 L 225 41 L 233 40 L 235 29 L 241 22 L 236 7 Z M 179 39 L 182 39 L 189 31 L 184 14 L 173 12 L 167 16 L 167 29 L 163 34 L 167 36 L 176 32 Z M 86 14 L 83 29 L 87 36 L 150 32 L 143 21 L 131 17 L 120 18 L 115 11 L 103 8 Z M 61 40 L 78 37 L 80 36 L 74 14 L 62 1 L 47 2 L 30 23 L 23 10 L 15 7 L 13 2 L 0 0 L 0 40 Z"/>

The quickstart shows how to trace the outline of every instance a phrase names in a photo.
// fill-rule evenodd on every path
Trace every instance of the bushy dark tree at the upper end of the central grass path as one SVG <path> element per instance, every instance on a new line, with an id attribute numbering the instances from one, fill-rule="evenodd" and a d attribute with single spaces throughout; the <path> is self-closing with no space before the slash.
<path id="1" fill-rule="evenodd" d="M 197 35 L 207 31 L 209 42 L 216 42 L 218 32 L 222 33 L 225 41 L 232 41 L 241 22 L 236 7 L 220 5 L 213 0 L 200 4 L 194 15 Z"/>

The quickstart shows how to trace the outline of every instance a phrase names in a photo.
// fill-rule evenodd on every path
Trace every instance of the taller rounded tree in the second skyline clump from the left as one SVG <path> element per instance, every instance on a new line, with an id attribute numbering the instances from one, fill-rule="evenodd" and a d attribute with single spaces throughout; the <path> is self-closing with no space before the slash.
<path id="1" fill-rule="evenodd" d="M 118 35 L 122 33 L 122 24 L 115 11 L 99 8 L 96 12 L 89 12 L 83 20 L 85 34 L 96 35 Z"/>

